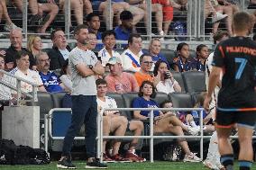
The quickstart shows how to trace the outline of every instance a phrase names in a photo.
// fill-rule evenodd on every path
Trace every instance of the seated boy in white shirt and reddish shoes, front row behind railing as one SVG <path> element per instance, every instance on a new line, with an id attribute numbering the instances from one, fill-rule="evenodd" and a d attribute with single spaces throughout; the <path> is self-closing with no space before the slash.
<path id="1" fill-rule="evenodd" d="M 117 108 L 117 105 L 113 98 L 105 96 L 107 92 L 107 84 L 104 79 L 96 80 L 96 89 L 97 89 L 97 108 L 100 113 L 102 109 L 105 108 Z M 126 130 L 132 130 L 134 136 L 142 135 L 143 123 L 142 121 L 129 121 L 126 117 L 120 115 L 120 112 L 117 111 L 105 111 L 103 112 L 103 135 L 107 136 L 110 132 L 114 132 L 115 136 L 124 136 Z M 135 154 L 135 147 L 138 144 L 139 139 L 133 139 L 130 143 L 130 148 L 128 149 L 125 157 L 121 157 L 118 153 L 121 141 L 114 140 L 113 152 L 107 155 L 105 153 L 105 144 L 106 141 L 103 141 L 103 160 L 105 162 L 144 162 L 145 159 L 139 157 Z"/>

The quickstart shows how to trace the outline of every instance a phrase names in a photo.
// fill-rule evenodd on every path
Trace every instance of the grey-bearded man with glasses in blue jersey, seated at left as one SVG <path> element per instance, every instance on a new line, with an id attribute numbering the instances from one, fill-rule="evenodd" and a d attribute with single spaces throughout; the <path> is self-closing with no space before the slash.
<path id="1" fill-rule="evenodd" d="M 37 69 L 41 76 L 41 81 L 47 92 L 63 92 L 64 85 L 61 84 L 59 77 L 49 70 L 50 58 L 46 52 L 40 52 L 36 56 Z"/>

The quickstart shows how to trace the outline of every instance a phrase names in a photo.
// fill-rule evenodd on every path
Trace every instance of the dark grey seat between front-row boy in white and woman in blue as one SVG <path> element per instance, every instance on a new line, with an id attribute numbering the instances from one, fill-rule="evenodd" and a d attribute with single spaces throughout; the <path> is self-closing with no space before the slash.
<path id="1" fill-rule="evenodd" d="M 128 94 L 122 94 L 123 96 L 123 102 L 125 108 L 133 108 L 133 100 L 138 97 L 138 93 L 128 93 Z M 125 112 L 126 117 L 128 120 L 133 119 L 133 112 L 132 111 L 127 111 Z"/>

